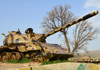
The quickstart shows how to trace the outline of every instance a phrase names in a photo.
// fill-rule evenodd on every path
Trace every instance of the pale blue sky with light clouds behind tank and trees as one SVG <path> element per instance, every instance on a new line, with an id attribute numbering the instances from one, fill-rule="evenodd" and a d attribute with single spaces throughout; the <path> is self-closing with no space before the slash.
<path id="1" fill-rule="evenodd" d="M 54 6 L 71 6 L 75 16 L 84 16 L 94 10 L 100 11 L 100 0 L 0 0 L 0 34 L 8 34 L 8 31 L 16 31 L 18 28 L 22 33 L 31 27 L 35 33 L 42 33 L 41 23 L 46 13 Z M 100 15 L 91 19 L 95 28 L 100 26 Z M 100 28 L 99 28 L 100 29 Z M 3 44 L 4 36 L 0 35 L 0 45 Z M 88 44 L 88 50 L 100 50 L 100 34 L 98 38 Z M 55 35 L 47 38 L 48 43 L 62 44 Z"/>

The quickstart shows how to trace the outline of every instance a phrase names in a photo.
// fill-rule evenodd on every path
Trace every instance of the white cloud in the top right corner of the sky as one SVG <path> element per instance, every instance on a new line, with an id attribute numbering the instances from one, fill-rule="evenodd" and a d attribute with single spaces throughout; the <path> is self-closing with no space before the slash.
<path id="1" fill-rule="evenodd" d="M 84 7 L 95 7 L 100 9 L 100 0 L 87 0 Z"/>

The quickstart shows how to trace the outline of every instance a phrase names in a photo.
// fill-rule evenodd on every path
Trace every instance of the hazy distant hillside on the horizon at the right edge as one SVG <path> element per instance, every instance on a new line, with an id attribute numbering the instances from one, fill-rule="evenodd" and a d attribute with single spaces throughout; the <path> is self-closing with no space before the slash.
<path id="1" fill-rule="evenodd" d="M 79 55 L 75 54 L 75 57 L 84 57 L 84 56 L 89 56 L 91 58 L 97 58 L 100 57 L 100 50 L 96 50 L 96 51 L 88 51 L 88 52 L 82 52 L 79 53 Z"/>

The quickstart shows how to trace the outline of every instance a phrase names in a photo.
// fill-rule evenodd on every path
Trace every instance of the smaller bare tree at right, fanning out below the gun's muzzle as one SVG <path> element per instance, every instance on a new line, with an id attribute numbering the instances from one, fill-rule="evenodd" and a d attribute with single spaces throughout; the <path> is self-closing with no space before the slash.
<path id="1" fill-rule="evenodd" d="M 91 26 L 91 23 L 88 21 L 82 21 L 79 24 L 76 24 L 76 27 L 73 29 L 73 41 L 71 42 L 72 46 L 72 53 L 83 49 L 85 51 L 85 46 L 88 44 L 89 41 L 92 41 L 96 38 L 96 34 L 98 33 L 97 29 L 94 29 Z"/>

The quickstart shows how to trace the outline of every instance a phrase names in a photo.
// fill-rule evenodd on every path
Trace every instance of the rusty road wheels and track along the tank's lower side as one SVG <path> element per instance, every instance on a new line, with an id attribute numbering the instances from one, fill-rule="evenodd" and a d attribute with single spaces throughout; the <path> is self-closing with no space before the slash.
<path id="1" fill-rule="evenodd" d="M 43 56 L 41 53 L 32 53 L 30 55 L 30 53 L 3 52 L 0 55 L 1 62 L 7 62 L 8 60 L 21 60 L 22 58 L 29 58 L 34 62 L 49 61 L 49 57 Z"/>

